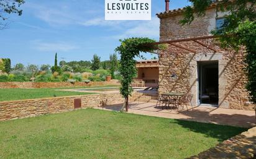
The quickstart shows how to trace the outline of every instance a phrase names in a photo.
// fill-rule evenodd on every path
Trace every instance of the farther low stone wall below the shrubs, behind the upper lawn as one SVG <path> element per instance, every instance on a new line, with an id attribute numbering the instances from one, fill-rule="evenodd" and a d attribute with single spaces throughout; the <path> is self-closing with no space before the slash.
<path id="1" fill-rule="evenodd" d="M 118 80 L 111 82 L 0 82 L 0 88 L 58 88 L 58 87 L 85 87 L 96 85 L 120 85 Z"/>

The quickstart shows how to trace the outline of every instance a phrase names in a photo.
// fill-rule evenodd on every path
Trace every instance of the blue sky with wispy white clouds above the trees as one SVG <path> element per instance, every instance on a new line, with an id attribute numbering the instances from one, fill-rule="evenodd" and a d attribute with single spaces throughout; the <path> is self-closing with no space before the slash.
<path id="1" fill-rule="evenodd" d="M 188 5 L 188 0 L 171 0 L 170 9 Z M 152 20 L 104 20 L 104 0 L 25 0 L 23 14 L 8 15 L 8 28 L 0 30 L 0 58 L 12 66 L 54 64 L 58 61 L 101 60 L 120 45 L 119 39 L 149 37 L 159 40 L 159 19 L 165 0 L 152 0 Z M 2 21 L 1 21 L 2 22 Z M 144 55 L 152 58 L 152 55 Z"/>

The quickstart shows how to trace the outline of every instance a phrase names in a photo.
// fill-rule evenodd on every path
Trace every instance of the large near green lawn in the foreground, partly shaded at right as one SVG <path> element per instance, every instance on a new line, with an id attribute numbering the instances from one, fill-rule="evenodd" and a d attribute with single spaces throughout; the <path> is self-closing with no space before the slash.
<path id="1" fill-rule="evenodd" d="M 186 158 L 243 128 L 102 110 L 0 122 L 0 158 Z"/>

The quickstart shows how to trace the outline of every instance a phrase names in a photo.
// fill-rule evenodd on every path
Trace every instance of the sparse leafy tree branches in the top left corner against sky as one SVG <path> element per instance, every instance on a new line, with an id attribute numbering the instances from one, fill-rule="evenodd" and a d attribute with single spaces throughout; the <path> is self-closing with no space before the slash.
<path id="1" fill-rule="evenodd" d="M 24 0 L 0 0 L 0 19 L 7 20 L 6 14 L 17 14 L 22 15 L 22 10 L 19 10 Z M 0 22 L 0 30 L 7 27 L 7 23 Z"/>

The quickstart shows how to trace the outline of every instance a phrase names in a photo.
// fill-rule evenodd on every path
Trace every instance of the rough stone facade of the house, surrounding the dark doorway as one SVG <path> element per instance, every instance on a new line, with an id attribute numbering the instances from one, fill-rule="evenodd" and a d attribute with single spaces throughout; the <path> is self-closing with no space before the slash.
<path id="1" fill-rule="evenodd" d="M 221 17 L 222 14 L 219 14 Z M 216 10 L 206 11 L 205 17 L 196 18 L 191 25 L 181 26 L 182 14 L 158 14 L 160 18 L 160 41 L 180 38 L 202 37 L 210 35 L 216 26 Z M 198 104 L 198 62 L 217 61 L 219 67 L 219 107 L 231 109 L 253 110 L 250 105 L 245 84 L 244 49 L 239 53 L 219 48 L 216 40 L 199 40 L 217 49 L 210 49 L 194 41 L 176 43 L 186 48 L 194 49 L 196 53 L 168 46 L 159 55 L 159 93 L 187 92 L 193 94 L 193 105 Z M 176 77 L 171 77 L 175 74 Z"/>

